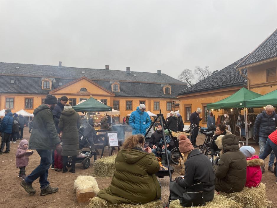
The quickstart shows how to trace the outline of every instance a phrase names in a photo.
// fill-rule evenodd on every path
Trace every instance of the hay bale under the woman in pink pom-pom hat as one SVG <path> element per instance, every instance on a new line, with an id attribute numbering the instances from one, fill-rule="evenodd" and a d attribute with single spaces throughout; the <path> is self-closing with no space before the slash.
<path id="1" fill-rule="evenodd" d="M 170 202 L 170 208 L 182 208 L 180 200 L 173 200 Z M 229 199 L 225 196 L 214 194 L 214 199 L 211 202 L 207 202 L 205 206 L 197 206 L 199 208 L 241 208 L 241 204 Z M 193 208 L 197 208 L 193 207 Z"/>

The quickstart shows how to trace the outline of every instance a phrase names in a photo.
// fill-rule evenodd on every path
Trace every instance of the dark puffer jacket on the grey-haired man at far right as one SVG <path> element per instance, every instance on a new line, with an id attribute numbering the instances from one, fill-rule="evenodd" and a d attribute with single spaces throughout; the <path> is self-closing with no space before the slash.
<path id="1" fill-rule="evenodd" d="M 277 114 L 275 111 L 270 116 L 263 111 L 255 120 L 254 134 L 259 135 L 259 137 L 268 137 L 269 134 L 276 130 L 276 122 Z"/>

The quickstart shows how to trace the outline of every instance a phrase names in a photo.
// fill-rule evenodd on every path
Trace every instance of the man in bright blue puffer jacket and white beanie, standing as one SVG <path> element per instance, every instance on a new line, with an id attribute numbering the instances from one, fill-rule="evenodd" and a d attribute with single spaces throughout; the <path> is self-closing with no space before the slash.
<path id="1" fill-rule="evenodd" d="M 133 128 L 132 134 L 146 134 L 146 129 L 151 125 L 151 119 L 148 113 L 145 112 L 146 106 L 140 104 L 136 111 L 131 113 L 129 125 Z"/>

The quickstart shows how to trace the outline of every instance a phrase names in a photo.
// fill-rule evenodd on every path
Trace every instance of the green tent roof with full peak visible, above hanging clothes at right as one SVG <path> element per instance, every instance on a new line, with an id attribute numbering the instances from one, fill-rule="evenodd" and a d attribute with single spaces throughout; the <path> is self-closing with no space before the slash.
<path id="1" fill-rule="evenodd" d="M 247 90 L 243 87 L 228 98 L 220 100 L 216 103 L 207 104 L 207 109 L 244 108 L 248 107 L 245 106 L 246 100 L 251 100 L 260 96 L 260 94 Z"/>

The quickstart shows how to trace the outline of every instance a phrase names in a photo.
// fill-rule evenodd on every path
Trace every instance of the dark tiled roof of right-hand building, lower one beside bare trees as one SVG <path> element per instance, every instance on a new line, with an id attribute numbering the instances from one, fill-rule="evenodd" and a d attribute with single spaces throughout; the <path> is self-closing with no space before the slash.
<path id="1" fill-rule="evenodd" d="M 185 90 L 182 90 L 179 94 L 184 95 L 188 93 L 208 91 L 208 90 L 219 89 L 223 87 L 245 85 L 246 83 L 245 77 L 242 77 L 239 74 L 239 71 L 237 71 L 235 68 L 237 64 L 243 60 L 243 58 L 225 67 L 224 69 L 221 69 L 220 71 L 212 74 L 210 77 L 203 79 L 202 81 L 196 83 L 195 85 Z M 247 69 L 243 69 L 242 73 L 247 76 Z"/>

